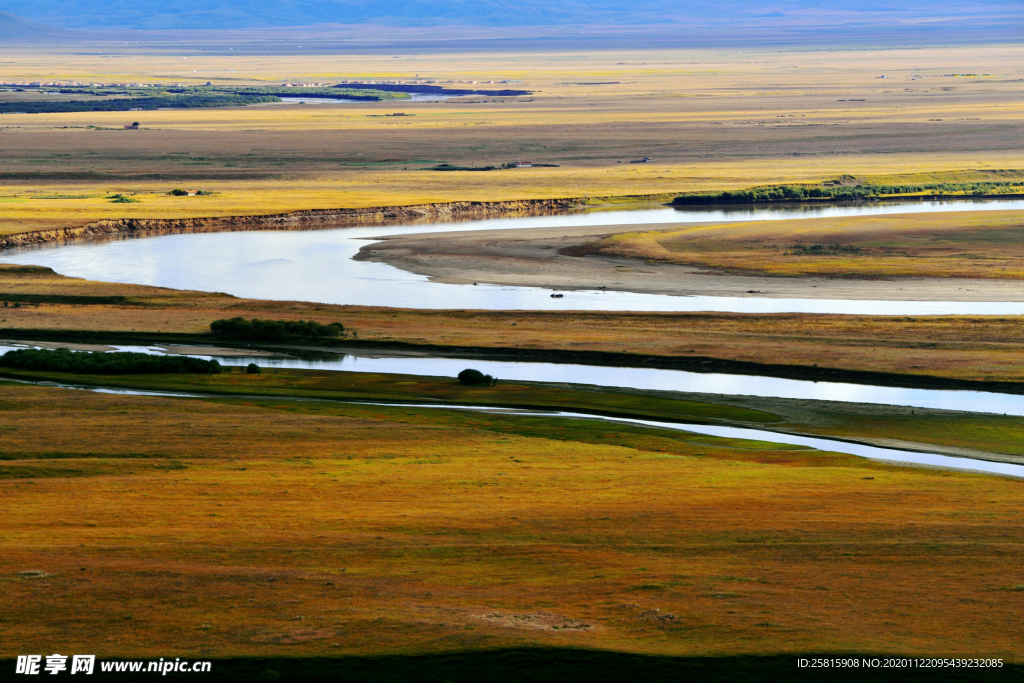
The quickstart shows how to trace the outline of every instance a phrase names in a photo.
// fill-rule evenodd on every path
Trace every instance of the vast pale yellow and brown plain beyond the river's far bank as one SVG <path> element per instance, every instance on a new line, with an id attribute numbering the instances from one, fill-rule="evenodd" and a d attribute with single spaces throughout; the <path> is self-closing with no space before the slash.
<path id="1" fill-rule="evenodd" d="M 43 48 L 0 48 L 0 80 L 246 84 L 419 75 L 535 92 L 401 105 L 7 115 L 0 120 L 0 232 L 98 218 L 553 197 L 599 202 L 842 174 L 922 182 L 1002 170 L 1009 173 L 1000 177 L 1019 178 L 1022 50 L 194 54 L 183 61 L 144 51 L 71 60 Z M 411 116 L 380 116 L 395 110 Z M 122 130 L 136 119 L 142 130 Z M 628 163 L 643 157 L 653 161 Z M 518 159 L 561 167 L 423 170 L 440 161 Z M 165 195 L 179 185 L 217 194 Z M 134 193 L 138 203 L 112 204 L 111 193 Z"/>

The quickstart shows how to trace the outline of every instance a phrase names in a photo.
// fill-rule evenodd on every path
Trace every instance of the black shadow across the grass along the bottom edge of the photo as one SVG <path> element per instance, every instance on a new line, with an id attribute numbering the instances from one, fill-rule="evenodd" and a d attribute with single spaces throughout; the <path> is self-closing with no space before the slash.
<path id="1" fill-rule="evenodd" d="M 742 681 L 827 681 L 850 683 L 871 681 L 1020 681 L 1024 666 L 1006 663 L 1000 669 L 964 668 L 883 668 L 884 655 L 816 655 L 848 656 L 860 666 L 855 668 L 800 668 L 800 658 L 815 655 L 732 656 L 732 657 L 671 657 L 620 652 L 517 648 L 477 652 L 456 652 L 425 655 L 339 656 L 331 658 L 252 657 L 213 660 L 209 673 L 108 673 L 99 671 L 83 680 L 89 681 L 216 681 L 217 683 L 369 683 L 387 681 L 423 681 L 431 683 L 600 683 L 626 681 L 699 681 L 718 683 Z M 166 658 L 166 657 L 165 657 Z M 874 659 L 877 668 L 865 666 Z M 892 661 L 892 658 L 889 658 Z M 908 661 L 908 659 L 902 659 Z M 910 660 L 912 661 L 912 660 Z M 43 659 L 45 664 L 45 658 Z M 148 660 L 146 661 L 146 664 Z M 0 660 L 0 681 L 32 680 L 14 674 L 13 659 Z M 68 672 L 61 672 L 68 675 Z M 40 675 L 45 672 L 40 671 Z"/>

